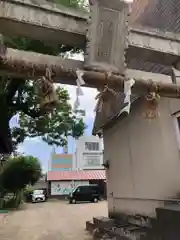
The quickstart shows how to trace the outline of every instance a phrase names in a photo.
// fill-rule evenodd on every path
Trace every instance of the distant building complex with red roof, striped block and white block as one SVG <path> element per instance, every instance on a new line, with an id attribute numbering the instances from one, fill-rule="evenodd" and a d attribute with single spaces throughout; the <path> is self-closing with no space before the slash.
<path id="1" fill-rule="evenodd" d="M 102 139 L 82 136 L 75 141 L 74 154 L 51 154 L 47 174 L 49 195 L 64 197 L 78 185 L 97 184 L 102 196 L 106 196 L 106 176 L 103 164 Z"/>

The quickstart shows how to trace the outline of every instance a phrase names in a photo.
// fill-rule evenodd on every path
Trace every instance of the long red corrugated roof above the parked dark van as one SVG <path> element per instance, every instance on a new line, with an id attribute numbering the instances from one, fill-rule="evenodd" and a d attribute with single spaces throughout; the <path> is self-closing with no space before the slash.
<path id="1" fill-rule="evenodd" d="M 48 181 L 60 180 L 105 180 L 105 170 L 79 170 L 48 172 Z"/>

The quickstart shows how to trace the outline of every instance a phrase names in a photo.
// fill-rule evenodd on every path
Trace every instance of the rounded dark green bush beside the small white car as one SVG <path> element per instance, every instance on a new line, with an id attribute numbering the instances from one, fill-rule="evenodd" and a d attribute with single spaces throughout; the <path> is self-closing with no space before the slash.
<path id="1" fill-rule="evenodd" d="M 1 189 L 17 192 L 28 184 L 34 185 L 41 177 L 41 165 L 32 156 L 9 158 L 0 174 Z"/>

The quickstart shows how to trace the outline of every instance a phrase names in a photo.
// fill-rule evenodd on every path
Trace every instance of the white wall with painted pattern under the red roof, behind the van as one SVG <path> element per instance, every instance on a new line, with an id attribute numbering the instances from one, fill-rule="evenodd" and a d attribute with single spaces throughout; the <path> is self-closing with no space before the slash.
<path id="1" fill-rule="evenodd" d="M 89 185 L 89 181 L 57 181 L 51 182 L 51 196 L 68 195 L 76 186 Z"/>

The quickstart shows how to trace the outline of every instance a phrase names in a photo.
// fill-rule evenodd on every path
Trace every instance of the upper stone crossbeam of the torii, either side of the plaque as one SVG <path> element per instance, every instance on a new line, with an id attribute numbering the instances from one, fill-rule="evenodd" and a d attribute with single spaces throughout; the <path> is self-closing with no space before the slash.
<path id="1" fill-rule="evenodd" d="M 87 21 L 90 16 L 88 12 L 57 7 L 56 4 L 47 1 L 41 4 L 35 0 L 0 1 L 1 33 L 69 44 L 83 49 L 86 45 Z M 93 21 L 95 22 L 95 19 Z M 168 66 L 178 59 L 179 34 L 145 27 L 129 27 L 128 32 L 128 68 L 131 68 L 132 58 Z"/>

